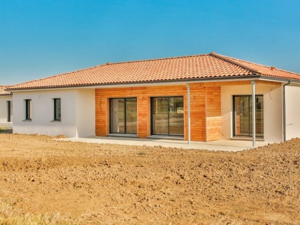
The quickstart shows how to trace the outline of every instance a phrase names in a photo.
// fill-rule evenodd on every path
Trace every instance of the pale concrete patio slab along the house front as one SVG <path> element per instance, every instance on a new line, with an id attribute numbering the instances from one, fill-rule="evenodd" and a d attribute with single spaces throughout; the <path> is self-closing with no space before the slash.
<path id="1" fill-rule="evenodd" d="M 176 139 L 144 139 L 136 137 L 71 137 L 60 138 L 61 141 L 87 142 L 98 144 L 117 144 L 117 145 L 135 145 L 135 146 L 163 146 L 166 148 L 182 148 L 182 149 L 205 149 L 214 151 L 241 151 L 252 149 L 252 141 L 247 140 L 217 140 L 210 142 L 192 141 L 188 144 L 184 140 Z M 257 141 L 256 147 L 268 145 L 269 142 Z"/>

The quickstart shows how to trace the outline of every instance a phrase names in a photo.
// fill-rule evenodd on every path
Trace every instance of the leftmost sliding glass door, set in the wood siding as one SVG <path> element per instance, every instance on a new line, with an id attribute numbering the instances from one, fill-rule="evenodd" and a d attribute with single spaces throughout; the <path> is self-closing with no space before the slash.
<path id="1" fill-rule="evenodd" d="M 110 99 L 110 133 L 137 133 L 136 98 Z"/>

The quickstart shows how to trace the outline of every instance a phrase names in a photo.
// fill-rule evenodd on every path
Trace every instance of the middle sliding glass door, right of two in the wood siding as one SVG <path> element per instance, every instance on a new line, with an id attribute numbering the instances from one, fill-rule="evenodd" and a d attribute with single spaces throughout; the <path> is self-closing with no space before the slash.
<path id="1" fill-rule="evenodd" d="M 183 136 L 183 97 L 151 99 L 151 134 Z"/>

